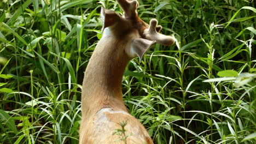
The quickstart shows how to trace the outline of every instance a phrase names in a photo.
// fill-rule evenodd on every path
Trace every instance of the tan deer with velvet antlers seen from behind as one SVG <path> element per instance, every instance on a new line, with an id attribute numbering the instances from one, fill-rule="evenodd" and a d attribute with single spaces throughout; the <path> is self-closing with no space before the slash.
<path id="1" fill-rule="evenodd" d="M 156 19 L 148 23 L 138 17 L 136 0 L 117 0 L 124 14 L 101 7 L 102 38 L 86 67 L 82 87 L 82 120 L 79 144 L 124 143 L 118 135 L 120 122 L 125 125 L 126 143 L 153 143 L 146 128 L 131 116 L 123 101 L 121 83 L 127 63 L 159 43 L 170 46 L 174 38 L 159 33 Z"/>

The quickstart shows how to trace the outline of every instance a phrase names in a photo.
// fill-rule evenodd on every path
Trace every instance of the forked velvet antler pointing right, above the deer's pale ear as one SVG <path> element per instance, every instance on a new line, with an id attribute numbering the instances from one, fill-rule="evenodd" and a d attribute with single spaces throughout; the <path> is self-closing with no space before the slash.
<path id="1" fill-rule="evenodd" d="M 144 30 L 144 35 L 149 40 L 155 40 L 156 43 L 162 45 L 172 45 L 174 44 L 174 38 L 169 35 L 164 35 L 158 33 L 161 30 L 161 26 L 158 26 L 158 21 L 156 19 L 150 20 L 149 28 Z"/>

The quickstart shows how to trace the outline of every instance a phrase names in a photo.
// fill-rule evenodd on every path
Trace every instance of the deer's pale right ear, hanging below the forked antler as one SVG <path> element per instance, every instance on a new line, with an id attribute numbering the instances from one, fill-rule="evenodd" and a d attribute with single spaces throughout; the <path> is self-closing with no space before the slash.
<path id="1" fill-rule="evenodd" d="M 155 43 L 155 40 L 147 39 L 133 39 L 130 45 L 130 55 L 132 57 L 139 57 L 139 62 L 141 62 L 144 53 L 150 49 L 150 47 Z"/>

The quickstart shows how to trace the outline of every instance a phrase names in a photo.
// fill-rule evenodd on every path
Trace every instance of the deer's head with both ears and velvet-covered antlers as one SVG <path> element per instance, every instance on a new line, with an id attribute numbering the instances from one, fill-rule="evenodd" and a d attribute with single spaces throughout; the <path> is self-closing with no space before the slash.
<path id="1" fill-rule="evenodd" d="M 168 35 L 160 34 L 161 26 L 156 19 L 150 20 L 149 25 L 138 17 L 137 7 L 139 3 L 136 0 L 117 0 L 124 11 L 123 17 L 112 10 L 102 8 L 101 16 L 103 19 L 103 28 L 111 34 L 107 37 L 116 37 L 117 40 L 125 41 L 128 46 L 125 52 L 130 58 L 139 57 L 139 61 L 144 53 L 154 43 L 170 46 L 174 44 L 174 38 Z"/>

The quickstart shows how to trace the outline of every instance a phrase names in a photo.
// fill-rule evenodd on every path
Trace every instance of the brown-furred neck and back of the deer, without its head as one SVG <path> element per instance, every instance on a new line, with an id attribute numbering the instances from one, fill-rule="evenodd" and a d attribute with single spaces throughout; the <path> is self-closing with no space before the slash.
<path id="1" fill-rule="evenodd" d="M 127 119 L 126 134 L 131 134 L 127 143 L 153 143 L 143 125 L 127 113 L 121 92 L 123 73 L 131 59 L 126 54 L 129 39 L 140 36 L 137 31 L 128 32 L 126 38 L 119 37 L 118 31 L 109 31 L 116 34 L 112 37 L 103 36 L 85 71 L 79 143 L 123 143 L 113 133 L 116 129 L 121 129 L 120 122 Z M 111 109 L 113 113 L 101 113 L 104 109 Z M 102 121 L 100 117 L 106 117 L 106 121 Z"/>

